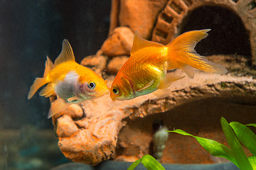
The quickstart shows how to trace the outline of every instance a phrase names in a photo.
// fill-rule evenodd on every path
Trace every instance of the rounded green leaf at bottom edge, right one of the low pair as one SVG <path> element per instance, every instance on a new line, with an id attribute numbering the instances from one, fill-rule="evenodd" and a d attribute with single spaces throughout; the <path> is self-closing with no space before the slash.
<path id="1" fill-rule="evenodd" d="M 161 166 L 161 164 L 157 162 L 156 159 L 154 159 L 154 157 L 151 157 L 149 154 L 146 154 L 142 157 L 142 164 L 148 170 L 165 170 L 164 166 Z"/>

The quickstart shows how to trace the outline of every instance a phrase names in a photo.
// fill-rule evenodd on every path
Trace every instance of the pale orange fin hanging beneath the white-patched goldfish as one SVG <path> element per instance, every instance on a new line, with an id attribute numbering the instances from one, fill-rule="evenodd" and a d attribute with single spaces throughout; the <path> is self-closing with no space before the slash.
<path id="1" fill-rule="evenodd" d="M 70 106 L 70 103 L 65 103 L 62 98 L 58 98 L 57 100 L 53 101 L 53 103 L 51 103 L 48 118 L 51 118 L 53 115 L 64 111 L 68 108 L 68 106 Z"/>

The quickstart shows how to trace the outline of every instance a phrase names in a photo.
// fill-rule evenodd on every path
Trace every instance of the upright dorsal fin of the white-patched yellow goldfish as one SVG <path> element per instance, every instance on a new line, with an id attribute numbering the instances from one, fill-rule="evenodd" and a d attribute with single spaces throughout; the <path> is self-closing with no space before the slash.
<path id="1" fill-rule="evenodd" d="M 72 50 L 72 47 L 68 40 L 63 40 L 63 48 L 60 52 L 60 55 L 56 58 L 54 62 L 54 67 L 60 63 L 73 61 L 75 62 L 75 56 Z"/>

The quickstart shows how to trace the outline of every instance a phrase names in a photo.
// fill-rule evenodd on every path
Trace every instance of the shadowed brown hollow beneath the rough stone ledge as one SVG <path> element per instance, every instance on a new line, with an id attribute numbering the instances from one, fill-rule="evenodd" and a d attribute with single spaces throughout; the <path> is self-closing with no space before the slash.
<path id="1" fill-rule="evenodd" d="M 232 94 L 233 91 L 228 93 Z M 255 123 L 255 101 L 255 96 L 201 98 L 182 103 L 164 113 L 127 119 L 127 125 L 118 135 L 115 157 L 131 159 L 141 153 L 149 154 L 155 120 L 163 120 L 169 130 L 181 129 L 226 145 L 220 118 L 225 118 L 229 123 Z M 251 130 L 256 132 L 254 128 Z M 212 157 L 193 137 L 170 133 L 165 145 L 161 159 L 165 164 L 214 164 L 226 161 Z M 245 152 L 250 154 L 247 149 Z"/>

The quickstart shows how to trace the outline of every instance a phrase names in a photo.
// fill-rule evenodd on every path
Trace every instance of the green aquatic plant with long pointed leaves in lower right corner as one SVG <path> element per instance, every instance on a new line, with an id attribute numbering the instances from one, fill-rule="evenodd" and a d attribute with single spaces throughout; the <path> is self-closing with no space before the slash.
<path id="1" fill-rule="evenodd" d="M 209 140 L 203 137 L 196 137 L 183 130 L 172 130 L 168 132 L 176 132 L 181 135 L 194 137 L 198 143 L 206 149 L 207 152 L 215 157 L 223 157 L 230 160 L 241 170 L 255 170 L 256 169 L 256 135 L 247 126 L 254 126 L 256 124 L 242 125 L 238 122 L 228 123 L 225 118 L 220 118 L 220 123 L 223 128 L 226 140 L 230 149 L 215 140 Z M 253 154 L 252 157 L 247 157 L 242 145 Z"/>

